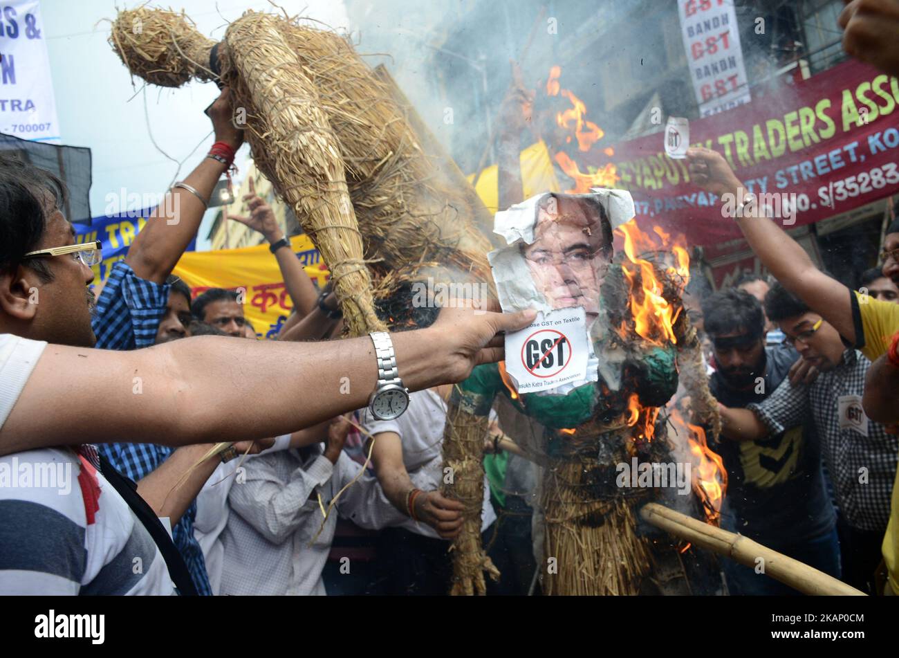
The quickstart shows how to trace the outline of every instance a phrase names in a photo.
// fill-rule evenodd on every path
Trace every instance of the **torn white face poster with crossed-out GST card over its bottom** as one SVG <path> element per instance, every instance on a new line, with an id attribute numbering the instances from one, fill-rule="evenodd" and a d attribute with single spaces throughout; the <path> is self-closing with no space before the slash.
<path id="1" fill-rule="evenodd" d="M 627 191 L 544 193 L 496 213 L 508 246 L 487 254 L 503 311 L 536 308 L 537 321 L 506 335 L 509 377 L 519 392 L 564 395 L 598 379 L 590 331 L 601 313 L 601 284 L 612 230 L 634 216 Z"/>

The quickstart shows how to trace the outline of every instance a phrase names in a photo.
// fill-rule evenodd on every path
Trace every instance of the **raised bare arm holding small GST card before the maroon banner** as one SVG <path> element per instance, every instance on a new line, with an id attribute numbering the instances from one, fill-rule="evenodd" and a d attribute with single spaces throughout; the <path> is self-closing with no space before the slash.
<path id="1" fill-rule="evenodd" d="M 699 187 L 719 197 L 732 194 L 737 206 L 743 203 L 746 195 L 743 182 L 734 175 L 724 156 L 708 148 L 694 147 L 687 152 L 687 157 L 690 175 Z M 750 216 L 722 217 L 721 221 L 734 221 L 752 251 L 784 288 L 836 327 L 843 338 L 856 342 L 850 289 L 815 267 L 806 250 L 777 226 L 777 220 L 764 218 L 763 214 L 764 209 L 759 208 L 749 213 Z"/>

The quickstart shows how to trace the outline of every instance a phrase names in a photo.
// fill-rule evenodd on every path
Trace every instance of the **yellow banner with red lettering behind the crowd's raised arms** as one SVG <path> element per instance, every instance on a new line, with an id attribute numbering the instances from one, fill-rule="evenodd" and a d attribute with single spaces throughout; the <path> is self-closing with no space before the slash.
<path id="1" fill-rule="evenodd" d="M 290 246 L 309 277 L 322 288 L 331 273 L 312 240 L 294 236 Z M 194 298 L 210 288 L 243 292 L 244 316 L 263 338 L 278 333 L 293 307 L 269 245 L 184 253 L 172 273 L 191 287 Z"/>

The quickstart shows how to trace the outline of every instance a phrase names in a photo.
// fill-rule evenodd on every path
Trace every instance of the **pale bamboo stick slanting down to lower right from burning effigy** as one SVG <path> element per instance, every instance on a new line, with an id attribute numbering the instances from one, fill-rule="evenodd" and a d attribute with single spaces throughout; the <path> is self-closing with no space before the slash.
<path id="1" fill-rule="evenodd" d="M 741 565 L 764 565 L 764 574 L 795 590 L 812 596 L 865 596 L 845 582 L 814 569 L 792 557 L 764 547 L 750 538 L 710 526 L 657 502 L 647 502 L 640 516 L 656 528 L 686 539 L 718 555 L 730 557 Z M 757 563 L 761 558 L 763 563 Z"/>

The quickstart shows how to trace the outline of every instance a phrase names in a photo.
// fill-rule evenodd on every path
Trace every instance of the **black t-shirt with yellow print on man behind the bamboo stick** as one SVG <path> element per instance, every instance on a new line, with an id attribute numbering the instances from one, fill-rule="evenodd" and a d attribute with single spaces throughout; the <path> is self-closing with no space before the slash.
<path id="1" fill-rule="evenodd" d="M 764 381 L 748 390 L 731 387 L 720 373 L 709 388 L 725 406 L 760 403 L 787 378 L 798 359 L 788 345 L 765 348 Z M 821 537 L 836 520 L 824 489 L 821 453 L 811 419 L 756 441 L 722 439 L 717 447 L 727 469 L 722 525 L 770 547 Z"/>

